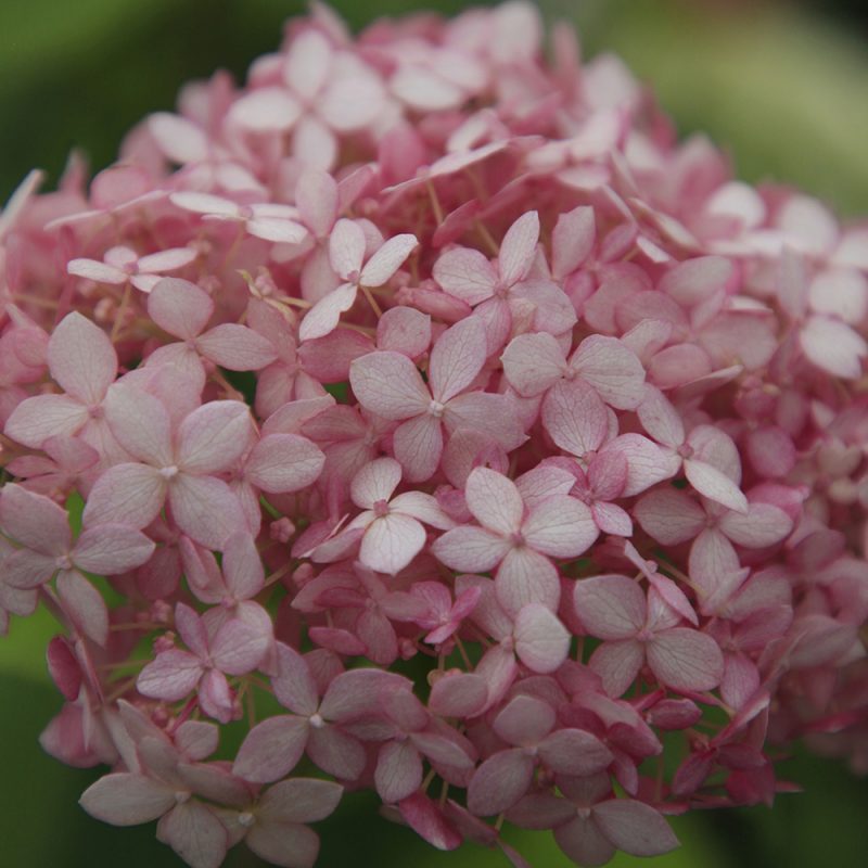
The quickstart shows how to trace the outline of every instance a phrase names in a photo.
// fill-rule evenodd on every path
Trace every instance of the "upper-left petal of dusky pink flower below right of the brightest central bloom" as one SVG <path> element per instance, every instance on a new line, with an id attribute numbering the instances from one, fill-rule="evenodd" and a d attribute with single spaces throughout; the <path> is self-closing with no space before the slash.
<path id="1" fill-rule="evenodd" d="M 573 603 L 587 631 L 599 639 L 627 639 L 644 626 L 644 593 L 627 576 L 583 578 L 573 589 Z"/>

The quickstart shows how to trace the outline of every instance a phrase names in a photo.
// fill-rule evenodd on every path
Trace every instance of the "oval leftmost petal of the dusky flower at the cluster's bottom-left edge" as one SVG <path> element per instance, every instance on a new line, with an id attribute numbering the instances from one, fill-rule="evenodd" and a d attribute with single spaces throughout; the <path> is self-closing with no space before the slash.
<path id="1" fill-rule="evenodd" d="M 80 805 L 112 826 L 138 826 L 174 807 L 175 793 L 165 783 L 128 771 L 104 775 L 81 795 Z"/>

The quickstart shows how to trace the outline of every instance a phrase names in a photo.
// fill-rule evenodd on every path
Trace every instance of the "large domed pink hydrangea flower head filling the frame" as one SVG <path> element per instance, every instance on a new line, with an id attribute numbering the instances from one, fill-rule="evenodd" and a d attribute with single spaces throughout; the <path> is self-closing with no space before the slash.
<path id="1" fill-rule="evenodd" d="M 590 866 L 868 770 L 868 229 L 548 55 L 315 4 L 3 212 L 0 628 L 63 625 L 94 817 L 309 868 L 370 788 Z"/>

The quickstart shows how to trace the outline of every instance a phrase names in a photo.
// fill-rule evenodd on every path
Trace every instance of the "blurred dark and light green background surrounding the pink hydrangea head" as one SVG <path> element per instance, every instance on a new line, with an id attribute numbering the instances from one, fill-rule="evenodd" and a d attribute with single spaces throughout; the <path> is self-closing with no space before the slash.
<path id="1" fill-rule="evenodd" d="M 354 28 L 381 14 L 461 0 L 335 0 Z M 478 3 L 476 3 L 478 4 Z M 841 214 L 868 214 L 868 4 L 760 0 L 550 0 L 551 20 L 577 23 L 586 56 L 622 54 L 654 82 L 682 133 L 705 130 L 738 174 L 803 187 Z M 242 78 L 272 50 L 292 0 L 0 0 L 0 201 L 33 166 L 56 180 L 73 146 L 93 169 L 124 132 L 169 108 L 181 82 L 229 68 Z M 0 640 L 0 866 L 179 866 L 153 828 L 114 829 L 77 807 L 92 770 L 46 756 L 37 736 L 60 707 L 48 680 L 43 617 L 14 622 Z M 684 846 L 614 866 L 860 868 L 868 864 L 868 786 L 839 763 L 802 754 L 782 773 L 806 792 L 773 810 L 695 813 L 675 821 Z M 320 868 L 506 866 L 476 847 L 441 854 L 375 816 L 375 800 L 348 796 L 319 825 Z M 537 868 L 569 863 L 547 835 L 513 837 Z M 227 865 L 261 865 L 243 847 Z"/>

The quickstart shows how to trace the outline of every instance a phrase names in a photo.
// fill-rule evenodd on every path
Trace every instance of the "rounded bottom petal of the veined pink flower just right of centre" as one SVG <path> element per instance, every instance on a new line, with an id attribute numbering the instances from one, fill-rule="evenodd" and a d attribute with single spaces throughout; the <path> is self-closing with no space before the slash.
<path id="1" fill-rule="evenodd" d="M 542 401 L 542 424 L 561 449 L 579 457 L 599 449 L 609 433 L 605 405 L 582 380 L 552 386 Z"/>

